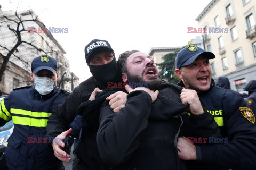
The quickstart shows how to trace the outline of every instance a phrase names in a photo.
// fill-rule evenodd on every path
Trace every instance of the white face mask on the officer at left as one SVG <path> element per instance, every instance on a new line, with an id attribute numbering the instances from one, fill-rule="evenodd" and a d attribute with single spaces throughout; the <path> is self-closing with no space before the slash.
<path id="1" fill-rule="evenodd" d="M 49 94 L 53 88 L 53 84 L 55 82 L 55 80 L 52 80 L 50 78 L 46 78 L 46 77 L 34 77 L 35 81 L 35 89 L 36 91 L 39 92 L 39 94 L 41 95 L 47 95 Z"/>

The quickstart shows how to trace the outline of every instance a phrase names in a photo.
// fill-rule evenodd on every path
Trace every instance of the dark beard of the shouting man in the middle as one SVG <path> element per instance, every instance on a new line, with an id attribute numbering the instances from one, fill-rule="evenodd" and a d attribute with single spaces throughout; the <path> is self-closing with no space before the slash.
<path id="1" fill-rule="evenodd" d="M 141 77 L 139 75 L 131 75 L 129 73 L 129 71 L 127 71 L 126 74 L 127 74 L 127 79 L 129 82 L 148 83 L 148 88 L 150 90 L 161 90 L 161 88 L 162 88 L 162 80 L 159 78 L 159 75 L 158 75 L 158 79 L 153 78 L 150 81 L 145 81 L 145 80 L 143 80 L 144 71 L 143 71 Z"/>

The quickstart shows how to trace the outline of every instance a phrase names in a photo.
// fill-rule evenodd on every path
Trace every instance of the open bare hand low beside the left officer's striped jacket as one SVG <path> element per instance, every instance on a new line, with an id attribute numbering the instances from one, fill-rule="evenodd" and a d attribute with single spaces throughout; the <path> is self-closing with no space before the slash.
<path id="1" fill-rule="evenodd" d="M 54 150 L 55 157 L 57 157 L 58 159 L 64 162 L 69 162 L 68 158 L 70 157 L 70 155 L 68 155 L 65 151 L 62 150 L 62 148 L 65 147 L 65 143 L 63 142 L 63 139 L 66 138 L 67 135 L 70 134 L 71 132 L 72 132 L 72 129 L 70 128 L 69 130 L 62 132 L 60 135 L 55 137 L 52 141 L 52 147 Z"/>

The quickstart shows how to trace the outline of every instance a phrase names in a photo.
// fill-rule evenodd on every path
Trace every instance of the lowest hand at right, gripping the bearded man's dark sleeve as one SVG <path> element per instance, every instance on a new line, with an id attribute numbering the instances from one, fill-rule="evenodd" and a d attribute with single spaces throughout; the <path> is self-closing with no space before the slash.
<path id="1" fill-rule="evenodd" d="M 191 141 L 188 142 L 188 138 L 178 138 L 177 148 L 180 150 L 178 151 L 180 159 L 196 160 L 196 146 Z"/>

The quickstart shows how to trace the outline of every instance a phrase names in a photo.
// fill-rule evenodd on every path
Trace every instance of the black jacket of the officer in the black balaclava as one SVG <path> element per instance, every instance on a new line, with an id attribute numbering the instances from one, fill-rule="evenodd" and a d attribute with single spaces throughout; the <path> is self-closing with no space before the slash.
<path id="1" fill-rule="evenodd" d="M 89 100 L 92 91 L 96 87 L 99 87 L 100 89 L 106 88 L 106 86 L 100 84 L 93 77 L 90 77 L 89 79 L 80 83 L 79 86 L 77 86 L 73 92 L 70 93 L 66 100 L 64 100 L 61 105 L 57 106 L 53 114 L 49 117 L 49 121 L 47 122 L 47 138 L 56 137 L 60 133 L 69 129 L 69 124 L 73 122 L 76 115 L 79 115 L 79 105 Z M 95 143 L 95 135 L 93 137 L 93 132 L 96 130 L 90 126 L 89 128 L 85 128 L 84 131 L 86 131 L 84 133 L 86 134 L 84 138 L 87 139 L 82 140 L 79 143 L 80 148 L 76 151 L 77 158 L 79 159 L 79 162 L 77 163 L 77 169 L 105 169 L 104 167 L 100 166 L 101 163 L 98 162 L 100 159 L 97 159 L 99 157 L 99 153 L 98 150 L 95 149 L 97 148 Z M 50 144 L 48 146 L 52 148 Z M 84 156 L 84 153 L 90 154 Z"/>

